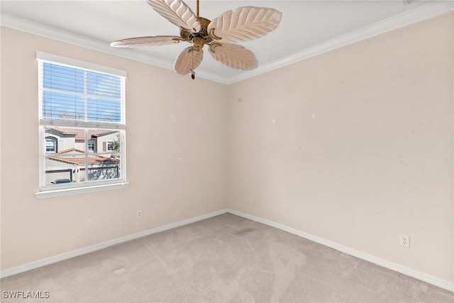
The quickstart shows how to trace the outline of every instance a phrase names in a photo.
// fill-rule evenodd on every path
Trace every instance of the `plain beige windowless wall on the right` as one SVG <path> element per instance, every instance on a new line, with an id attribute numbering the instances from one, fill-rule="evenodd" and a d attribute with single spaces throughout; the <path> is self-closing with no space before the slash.
<path id="1" fill-rule="evenodd" d="M 229 207 L 453 282 L 453 36 L 448 13 L 231 85 Z"/>

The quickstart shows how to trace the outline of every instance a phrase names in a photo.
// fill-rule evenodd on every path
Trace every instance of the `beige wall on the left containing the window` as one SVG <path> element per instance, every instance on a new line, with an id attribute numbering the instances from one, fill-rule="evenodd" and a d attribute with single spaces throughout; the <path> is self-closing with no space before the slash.
<path id="1" fill-rule="evenodd" d="M 127 189 L 36 199 L 35 50 L 126 70 Z M 204 94 L 191 94 L 203 89 Z M 1 268 L 92 246 L 226 205 L 223 84 L 1 29 Z M 143 219 L 135 219 L 143 210 Z"/>

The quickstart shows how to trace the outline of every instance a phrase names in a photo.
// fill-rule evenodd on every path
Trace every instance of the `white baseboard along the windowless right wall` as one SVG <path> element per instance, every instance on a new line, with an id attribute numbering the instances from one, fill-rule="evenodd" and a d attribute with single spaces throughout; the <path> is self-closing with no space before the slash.
<path id="1" fill-rule="evenodd" d="M 362 252 L 360 252 L 358 250 L 354 250 L 353 248 L 348 248 L 347 246 L 343 246 L 341 244 L 338 244 L 338 243 L 335 243 L 335 242 L 332 242 L 332 241 L 328 241 L 326 239 L 319 238 L 317 236 L 311 235 L 310 233 L 304 233 L 303 231 L 299 231 L 297 229 L 294 229 L 294 228 L 291 228 L 291 227 L 288 227 L 288 226 L 284 226 L 282 224 L 277 224 L 275 222 L 268 221 L 268 220 L 259 218 L 257 216 L 251 216 L 250 214 L 245 214 L 245 213 L 242 213 L 240 211 L 233 210 L 233 209 L 227 209 L 227 212 L 231 213 L 231 214 L 235 214 L 236 216 L 241 216 L 241 217 L 243 217 L 245 219 L 250 219 L 252 221 L 256 221 L 258 223 L 265 224 L 267 226 L 272 226 L 272 227 L 278 228 L 278 229 L 280 229 L 282 231 L 287 231 L 288 233 L 293 233 L 294 235 L 300 236 L 301 238 L 306 238 L 308 240 L 314 241 L 314 242 L 319 243 L 321 245 L 328 246 L 330 248 L 333 248 L 333 249 L 336 249 L 338 251 L 341 251 L 342 253 L 346 253 L 348 255 L 353 255 L 356 258 L 360 258 L 362 260 L 369 261 L 370 263 L 374 263 L 374 264 L 380 265 L 380 266 L 382 266 L 384 268 L 388 268 L 389 270 L 394 270 L 394 271 L 397 271 L 397 272 L 401 272 L 402 274 L 408 275 L 409 277 L 414 277 L 414 278 L 416 278 L 418 280 L 421 280 L 423 282 L 427 282 L 427 283 L 430 283 L 432 285 L 441 287 L 441 288 L 443 288 L 445 290 L 449 290 L 450 292 L 454 292 L 454 283 L 439 279 L 438 277 L 433 277 L 433 276 L 427 275 L 427 274 L 425 274 L 423 272 L 419 272 L 417 270 L 412 270 L 411 268 L 406 268 L 406 267 L 404 267 L 402 265 L 399 265 L 399 264 L 396 264 L 396 263 L 389 262 L 387 260 L 383 260 L 383 259 L 377 258 L 374 255 L 369 255 L 367 253 L 362 253 Z"/>

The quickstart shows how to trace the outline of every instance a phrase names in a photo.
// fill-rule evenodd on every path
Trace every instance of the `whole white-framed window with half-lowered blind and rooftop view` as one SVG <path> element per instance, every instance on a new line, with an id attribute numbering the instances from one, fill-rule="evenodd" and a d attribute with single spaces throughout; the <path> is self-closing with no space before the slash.
<path id="1" fill-rule="evenodd" d="M 37 57 L 40 150 L 45 150 L 40 193 L 124 187 L 126 72 L 41 52 Z M 95 150 L 102 143 L 107 149 Z"/>

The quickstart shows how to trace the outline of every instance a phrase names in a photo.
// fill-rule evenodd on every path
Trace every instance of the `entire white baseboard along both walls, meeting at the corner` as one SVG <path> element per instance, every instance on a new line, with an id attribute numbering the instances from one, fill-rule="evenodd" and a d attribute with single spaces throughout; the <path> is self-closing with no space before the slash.
<path id="1" fill-rule="evenodd" d="M 374 264 L 380 265 L 380 266 L 382 266 L 384 268 L 388 268 L 390 270 L 401 272 L 402 274 L 408 275 L 409 277 L 414 277 L 414 278 L 416 278 L 418 280 L 421 280 L 423 282 L 427 282 L 427 283 L 430 283 L 432 285 L 441 287 L 441 288 L 443 288 L 445 290 L 449 290 L 451 292 L 454 292 L 454 284 L 452 282 L 448 282 L 448 281 L 439 279 L 438 277 L 433 277 L 433 276 L 427 275 L 427 274 L 425 274 L 423 272 L 419 272 L 417 270 L 412 270 L 411 268 L 406 268 L 406 267 L 404 267 L 402 265 L 399 265 L 399 264 L 396 264 L 396 263 L 389 262 L 387 260 L 383 260 L 383 259 L 377 258 L 374 255 L 369 255 L 367 253 L 362 253 L 362 252 L 360 252 L 358 250 L 354 250 L 353 248 L 348 248 L 347 246 L 343 246 L 341 244 L 338 244 L 338 243 L 335 243 L 335 242 L 332 242 L 332 241 L 328 241 L 326 239 L 319 238 L 317 236 L 311 235 L 310 233 L 304 233 L 303 231 L 299 231 L 297 229 L 294 229 L 294 228 L 291 228 L 291 227 L 288 227 L 288 226 L 284 226 L 282 224 L 277 224 L 275 222 L 268 221 L 268 220 L 259 218 L 257 216 L 251 216 L 250 214 L 245 214 L 243 212 L 236 211 L 236 210 L 233 210 L 233 209 L 220 209 L 218 211 L 214 211 L 214 212 L 211 212 L 209 214 L 196 216 L 194 218 L 190 218 L 190 219 L 183 220 L 183 221 L 178 221 L 176 223 L 167 224 L 165 226 L 160 226 L 160 227 L 157 227 L 157 228 L 151 228 L 151 229 L 148 229 L 146 231 L 140 231 L 139 233 L 133 233 L 132 235 L 124 236 L 124 237 L 121 237 L 121 238 L 116 238 L 114 240 L 106 241 L 106 242 L 103 242 L 103 243 L 99 243 L 99 244 L 96 244 L 94 246 L 88 246 L 86 248 L 73 250 L 73 251 L 70 251 L 68 253 L 62 253 L 61 255 L 55 255 L 55 256 L 50 257 L 50 258 L 45 258 L 43 260 L 38 260 L 38 261 L 35 261 L 35 262 L 19 265 L 19 266 L 16 266 L 14 268 L 1 270 L 0 277 L 8 277 L 10 275 L 16 275 L 16 274 L 21 273 L 21 272 L 26 272 L 28 270 L 33 270 L 35 268 L 40 268 L 40 267 L 45 266 L 45 265 L 49 265 L 49 264 L 52 264 L 52 263 L 57 263 L 57 262 L 62 261 L 62 260 L 67 260 L 67 259 L 70 259 L 70 258 L 74 258 L 74 257 L 77 257 L 79 255 L 84 255 L 86 253 L 92 253 L 92 252 L 94 252 L 96 250 L 101 250 L 101 249 L 107 248 L 109 246 L 114 246 L 114 245 L 119 244 L 119 243 L 124 243 L 126 241 L 131 241 L 133 239 L 141 238 L 143 236 L 148 236 L 148 235 L 151 235 L 153 233 L 159 233 L 161 231 L 167 231 L 167 230 L 172 229 L 172 228 L 176 228 L 176 227 L 179 227 L 179 226 L 184 226 L 184 225 L 191 224 L 191 223 L 194 223 L 194 222 L 197 222 L 197 221 L 201 221 L 201 220 L 204 220 L 204 219 L 209 219 L 209 218 L 211 218 L 213 216 L 218 216 L 220 214 L 225 214 L 226 212 L 228 212 L 230 214 L 234 214 L 236 216 L 241 216 L 241 217 L 243 217 L 245 219 L 250 219 L 252 221 L 259 222 L 261 224 L 265 224 L 267 226 L 272 226 L 272 227 L 278 228 L 278 229 L 280 229 L 282 231 L 287 231 L 288 233 L 293 233 L 294 235 L 300 236 L 301 238 L 306 238 L 308 240 L 314 241 L 314 242 L 322 244 L 324 246 L 328 246 L 330 248 L 333 248 L 333 249 L 336 249 L 338 251 L 341 251 L 342 253 L 347 253 L 348 255 L 353 255 L 356 258 L 360 258 L 362 260 L 369 261 L 370 263 L 374 263 Z"/>

